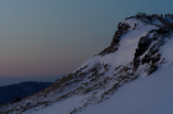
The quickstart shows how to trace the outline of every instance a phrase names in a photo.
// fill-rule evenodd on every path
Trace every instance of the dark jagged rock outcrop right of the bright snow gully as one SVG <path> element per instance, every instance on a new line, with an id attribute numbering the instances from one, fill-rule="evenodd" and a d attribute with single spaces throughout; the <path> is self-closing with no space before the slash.
<path id="1" fill-rule="evenodd" d="M 138 67 L 145 64 L 150 66 L 147 69 L 148 75 L 151 75 L 158 69 L 158 61 L 162 58 L 159 48 L 164 45 L 164 39 L 169 35 L 170 31 L 161 27 L 148 32 L 146 36 L 139 39 L 134 58 L 134 71 L 137 71 Z"/>

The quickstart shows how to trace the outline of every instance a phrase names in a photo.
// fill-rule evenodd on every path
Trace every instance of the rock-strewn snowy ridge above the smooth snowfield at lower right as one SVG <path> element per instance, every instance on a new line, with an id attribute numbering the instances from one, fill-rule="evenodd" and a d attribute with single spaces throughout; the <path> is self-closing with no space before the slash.
<path id="1" fill-rule="evenodd" d="M 102 105 L 118 94 L 124 84 L 137 82 L 140 77 L 148 78 L 158 69 L 171 68 L 173 32 L 166 27 L 170 20 L 127 18 L 118 24 L 111 46 L 44 91 L 0 106 L 0 113 L 47 114 L 54 111 L 51 114 L 56 114 L 58 111 L 60 114 L 85 114 L 89 107 Z"/>

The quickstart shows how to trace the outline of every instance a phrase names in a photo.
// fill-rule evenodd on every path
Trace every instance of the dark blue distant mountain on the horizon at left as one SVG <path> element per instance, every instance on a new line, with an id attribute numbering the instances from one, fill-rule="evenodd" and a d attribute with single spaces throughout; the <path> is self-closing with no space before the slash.
<path id="1" fill-rule="evenodd" d="M 0 105 L 8 102 L 15 102 L 25 96 L 32 95 L 41 90 L 44 90 L 51 82 L 21 82 L 11 86 L 0 87 Z"/>

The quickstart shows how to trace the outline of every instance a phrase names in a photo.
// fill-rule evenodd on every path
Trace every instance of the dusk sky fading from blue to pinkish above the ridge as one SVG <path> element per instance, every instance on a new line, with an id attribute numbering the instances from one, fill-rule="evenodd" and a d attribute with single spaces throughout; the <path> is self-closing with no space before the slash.
<path id="1" fill-rule="evenodd" d="M 44 81 L 73 71 L 137 12 L 173 13 L 173 1 L 0 0 L 0 86 L 2 78 Z"/>

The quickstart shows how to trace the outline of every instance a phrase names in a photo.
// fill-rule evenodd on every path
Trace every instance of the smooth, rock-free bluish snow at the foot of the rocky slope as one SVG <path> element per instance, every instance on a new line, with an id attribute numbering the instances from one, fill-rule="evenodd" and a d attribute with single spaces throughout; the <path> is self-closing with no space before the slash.
<path id="1" fill-rule="evenodd" d="M 173 114 L 173 66 L 129 82 L 109 100 L 89 106 L 79 114 Z M 32 114 L 69 114 L 79 105 L 80 96 L 55 103 Z"/>

